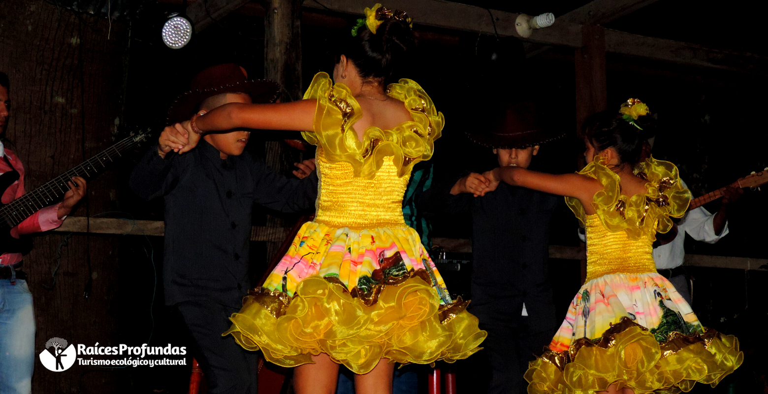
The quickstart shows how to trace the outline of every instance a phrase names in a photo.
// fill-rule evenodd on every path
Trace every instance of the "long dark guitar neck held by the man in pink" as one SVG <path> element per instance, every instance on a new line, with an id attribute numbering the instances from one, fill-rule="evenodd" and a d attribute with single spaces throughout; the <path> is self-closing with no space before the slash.
<path id="1" fill-rule="evenodd" d="M 72 177 L 84 177 L 85 179 L 94 177 L 94 175 L 103 171 L 109 164 L 117 160 L 118 157 L 121 157 L 127 150 L 144 141 L 146 137 L 147 133 L 137 134 L 108 147 L 77 167 L 55 177 L 41 187 L 22 195 L 22 197 L 18 197 L 11 203 L 0 207 L 0 217 L 5 219 L 5 223 L 8 223 L 8 226 L 17 226 L 18 223 L 22 223 L 22 221 L 35 214 L 38 210 L 61 201 L 69 191 L 68 182 L 71 182 Z"/>

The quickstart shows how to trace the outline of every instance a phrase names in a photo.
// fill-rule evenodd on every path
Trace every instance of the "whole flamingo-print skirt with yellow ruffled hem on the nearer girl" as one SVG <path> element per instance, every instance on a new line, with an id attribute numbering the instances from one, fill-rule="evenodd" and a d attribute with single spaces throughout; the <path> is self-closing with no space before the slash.
<path id="1" fill-rule="evenodd" d="M 356 373 L 382 358 L 453 362 L 487 335 L 467 304 L 451 299 L 412 228 L 308 222 L 223 335 L 280 366 L 312 363 L 319 353 Z"/>

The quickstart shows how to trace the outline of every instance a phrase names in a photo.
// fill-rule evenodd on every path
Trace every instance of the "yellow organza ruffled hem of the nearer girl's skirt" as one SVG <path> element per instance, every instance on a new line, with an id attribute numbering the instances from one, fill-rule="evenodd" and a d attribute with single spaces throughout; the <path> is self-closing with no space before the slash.
<path id="1" fill-rule="evenodd" d="M 333 277 L 310 276 L 293 297 L 261 287 L 233 313 L 232 334 L 245 349 L 262 349 L 280 366 L 312 363 L 328 354 L 355 373 L 370 372 L 379 359 L 390 363 L 452 363 L 477 352 L 487 333 L 461 299 L 440 305 L 424 270 L 411 270 L 397 284 L 382 286 L 366 305 Z"/>

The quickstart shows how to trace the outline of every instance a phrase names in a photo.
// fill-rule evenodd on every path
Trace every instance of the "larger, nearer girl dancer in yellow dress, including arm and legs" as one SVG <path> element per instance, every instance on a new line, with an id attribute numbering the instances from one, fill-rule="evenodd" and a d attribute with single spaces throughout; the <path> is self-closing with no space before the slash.
<path id="1" fill-rule="evenodd" d="M 303 101 L 226 104 L 177 125 L 180 153 L 197 134 L 241 127 L 299 130 L 317 145 L 316 218 L 224 333 L 296 366 L 300 393 L 334 392 L 339 363 L 359 374 L 356 392 L 391 392 L 394 363 L 453 362 L 486 336 L 402 217 L 411 168 L 432 157 L 443 125 L 419 84 L 385 85 L 409 61 L 409 25 L 404 12 L 366 8 L 333 81 L 317 74 Z"/>

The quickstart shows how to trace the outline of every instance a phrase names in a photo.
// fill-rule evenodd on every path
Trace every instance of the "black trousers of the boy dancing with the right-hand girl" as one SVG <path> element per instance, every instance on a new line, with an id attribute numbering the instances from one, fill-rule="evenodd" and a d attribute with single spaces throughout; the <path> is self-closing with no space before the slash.
<path id="1" fill-rule="evenodd" d="M 528 362 L 551 342 L 557 329 L 551 289 L 541 290 L 533 295 L 472 283 L 470 312 L 480 320 L 480 329 L 488 331 L 481 346 L 490 364 L 490 394 L 527 392 Z M 524 301 L 528 316 L 521 316 Z"/>

